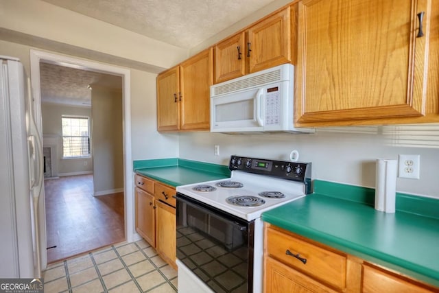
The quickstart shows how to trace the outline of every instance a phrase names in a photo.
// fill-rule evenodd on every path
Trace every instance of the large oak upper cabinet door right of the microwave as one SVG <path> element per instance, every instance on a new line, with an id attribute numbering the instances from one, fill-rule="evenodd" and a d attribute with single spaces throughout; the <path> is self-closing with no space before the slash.
<path id="1" fill-rule="evenodd" d="M 422 116 L 429 5 L 430 0 L 300 1 L 296 126 Z M 425 36 L 416 38 L 416 14 L 422 11 Z"/>

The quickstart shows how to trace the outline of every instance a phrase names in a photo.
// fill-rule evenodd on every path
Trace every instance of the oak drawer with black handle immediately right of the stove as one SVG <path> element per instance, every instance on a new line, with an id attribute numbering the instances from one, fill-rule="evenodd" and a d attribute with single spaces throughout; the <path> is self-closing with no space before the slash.
<path id="1" fill-rule="evenodd" d="M 267 250 L 271 257 L 296 268 L 314 279 L 343 290 L 346 287 L 346 257 L 301 239 L 267 228 Z M 306 259 L 302 263 L 287 250 Z"/>

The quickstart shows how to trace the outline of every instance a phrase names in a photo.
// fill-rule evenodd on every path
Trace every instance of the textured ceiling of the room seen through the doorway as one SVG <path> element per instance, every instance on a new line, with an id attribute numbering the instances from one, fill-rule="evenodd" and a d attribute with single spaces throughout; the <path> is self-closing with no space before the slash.
<path id="1" fill-rule="evenodd" d="M 88 84 L 121 89 L 122 78 L 116 75 L 40 63 L 42 102 L 91 106 L 91 90 L 87 88 Z"/>

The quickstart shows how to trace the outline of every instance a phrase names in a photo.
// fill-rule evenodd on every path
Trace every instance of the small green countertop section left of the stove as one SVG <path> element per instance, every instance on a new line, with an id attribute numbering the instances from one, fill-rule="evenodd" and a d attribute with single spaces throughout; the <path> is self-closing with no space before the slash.
<path id="1" fill-rule="evenodd" d="M 227 166 L 175 158 L 134 161 L 133 169 L 174 187 L 230 177 Z"/>

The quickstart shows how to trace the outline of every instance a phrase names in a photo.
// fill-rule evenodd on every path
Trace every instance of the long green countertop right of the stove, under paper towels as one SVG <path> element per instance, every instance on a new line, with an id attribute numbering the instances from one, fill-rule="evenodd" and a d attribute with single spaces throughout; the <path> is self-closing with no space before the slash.
<path id="1" fill-rule="evenodd" d="M 370 204 L 374 189 L 352 187 L 351 191 L 366 189 L 361 202 L 355 196 L 343 198 L 350 190 L 346 185 L 341 188 L 343 196 L 324 192 L 324 187 L 335 191 L 334 185 L 315 180 L 314 194 L 267 211 L 262 219 L 439 286 L 439 200 L 397 194 L 396 213 L 383 213 Z M 414 202 L 412 212 L 407 206 Z"/>

